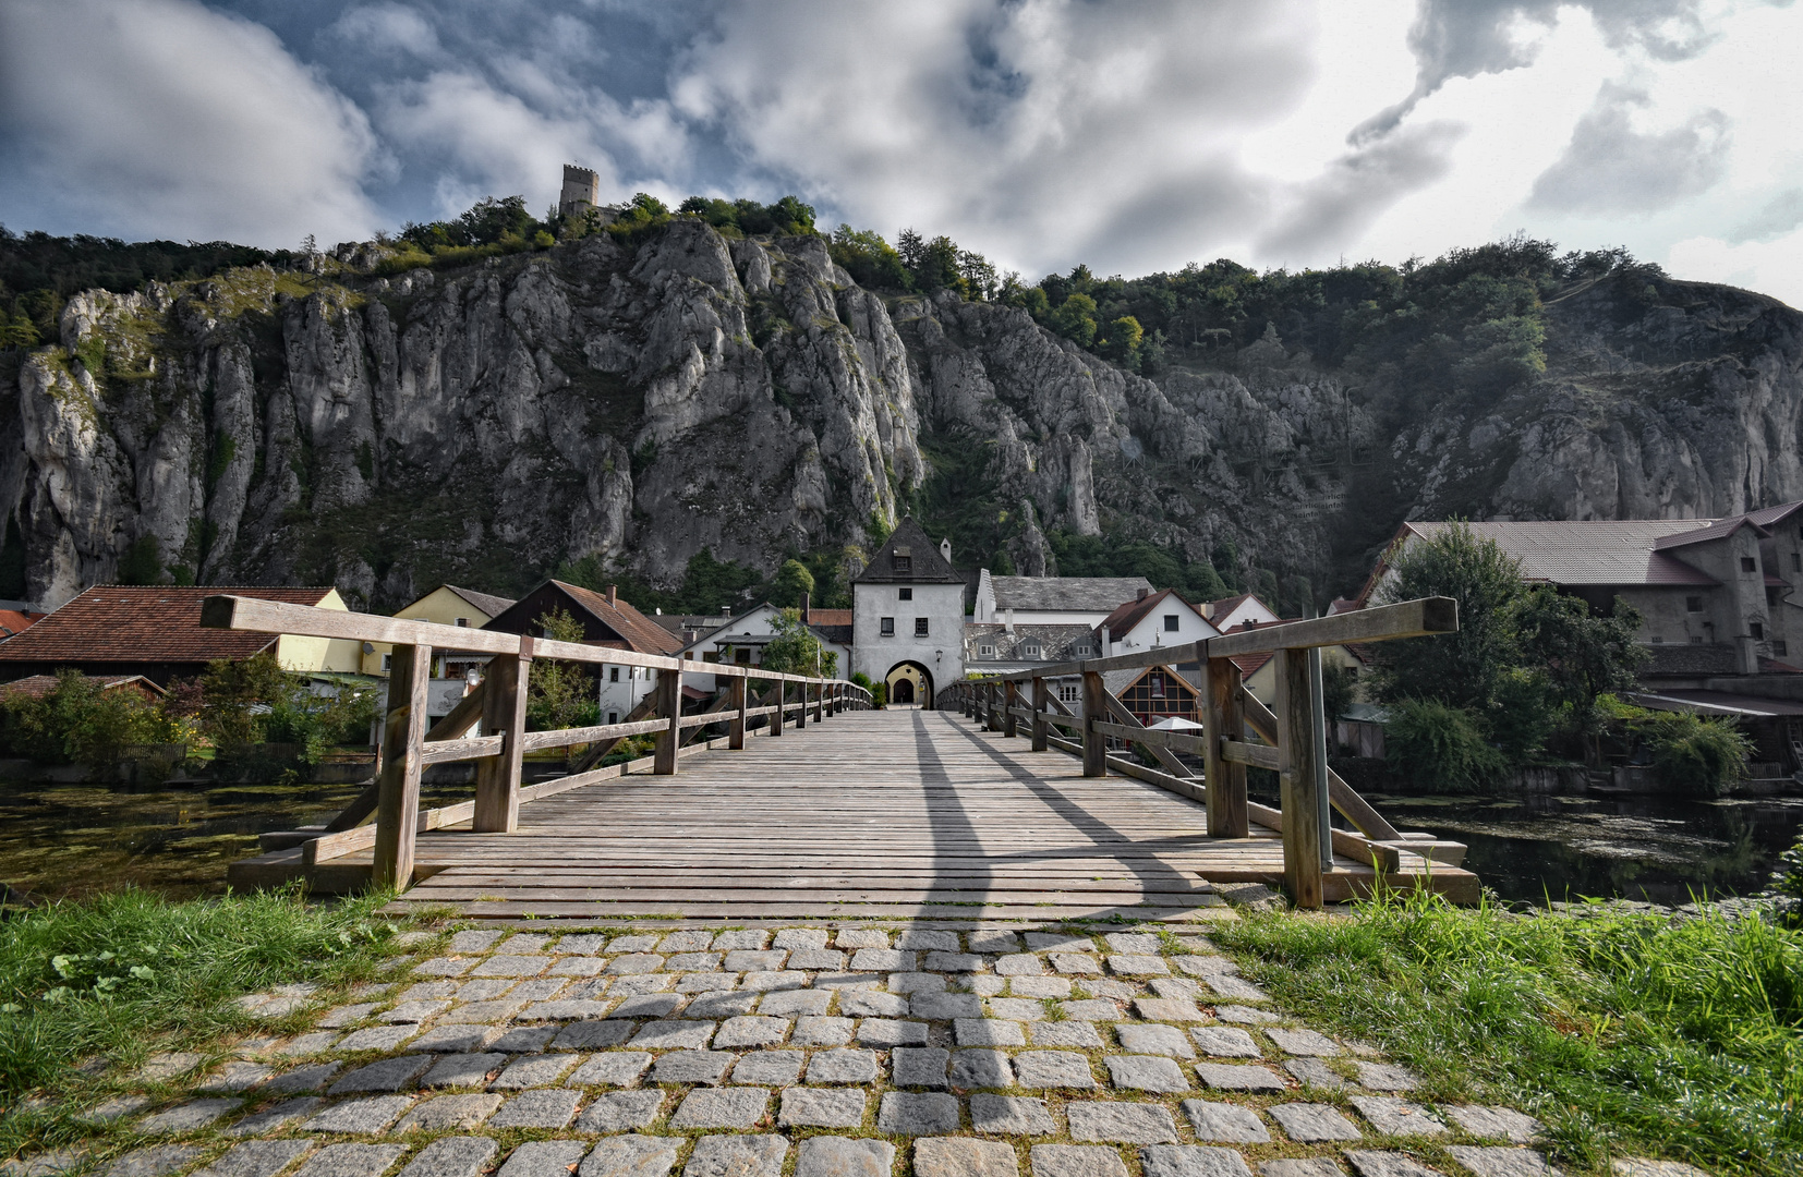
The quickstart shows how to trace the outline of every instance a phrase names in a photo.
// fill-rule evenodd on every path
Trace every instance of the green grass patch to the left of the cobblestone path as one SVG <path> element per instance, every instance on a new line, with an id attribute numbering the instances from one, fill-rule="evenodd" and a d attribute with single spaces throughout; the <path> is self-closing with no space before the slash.
<path id="1" fill-rule="evenodd" d="M 132 1065 L 150 1051 L 243 1031 L 252 1020 L 233 1004 L 243 993 L 373 977 L 397 930 L 375 914 L 386 899 L 321 905 L 290 890 L 169 901 L 117 890 L 7 910 L 0 1101 L 81 1087 L 87 1076 L 76 1067 L 90 1058 Z M 9 1155 L 4 1139 L 0 1155 Z"/>

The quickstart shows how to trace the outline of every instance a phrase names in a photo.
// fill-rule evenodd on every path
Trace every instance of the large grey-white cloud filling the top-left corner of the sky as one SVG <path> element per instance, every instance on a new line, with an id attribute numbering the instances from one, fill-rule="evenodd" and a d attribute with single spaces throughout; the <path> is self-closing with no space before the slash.
<path id="1" fill-rule="evenodd" d="M 83 231 L 366 236 L 362 112 L 274 32 L 189 0 L 0 5 L 0 196 Z"/>

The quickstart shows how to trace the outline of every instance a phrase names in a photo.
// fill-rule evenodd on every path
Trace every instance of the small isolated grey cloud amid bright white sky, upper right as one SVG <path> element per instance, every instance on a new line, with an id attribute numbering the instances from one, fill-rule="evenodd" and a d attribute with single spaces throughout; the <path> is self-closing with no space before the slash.
<path id="1" fill-rule="evenodd" d="M 1707 191 L 1727 168 L 1729 119 L 1704 110 L 1664 132 L 1637 132 L 1643 90 L 1605 83 L 1565 153 L 1534 180 L 1527 207 L 1556 213 L 1657 213 Z"/>

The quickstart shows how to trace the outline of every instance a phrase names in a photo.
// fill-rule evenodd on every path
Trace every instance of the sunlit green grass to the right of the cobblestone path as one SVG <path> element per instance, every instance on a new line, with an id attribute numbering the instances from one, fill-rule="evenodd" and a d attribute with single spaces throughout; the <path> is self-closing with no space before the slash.
<path id="1" fill-rule="evenodd" d="M 1423 1098 L 1538 1116 L 1567 1166 L 1803 1172 L 1803 934 L 1424 896 L 1210 935 L 1287 1008 L 1414 1067 Z"/>

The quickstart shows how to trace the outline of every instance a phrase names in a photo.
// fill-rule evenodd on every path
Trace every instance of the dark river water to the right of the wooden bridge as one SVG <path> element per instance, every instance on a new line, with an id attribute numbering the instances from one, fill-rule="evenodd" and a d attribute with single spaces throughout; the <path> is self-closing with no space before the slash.
<path id="1" fill-rule="evenodd" d="M 1803 827 L 1803 798 L 1387 797 L 1403 829 L 1469 845 L 1464 865 L 1504 899 L 1689 903 L 1765 887 Z"/>

